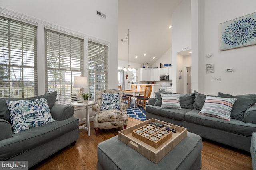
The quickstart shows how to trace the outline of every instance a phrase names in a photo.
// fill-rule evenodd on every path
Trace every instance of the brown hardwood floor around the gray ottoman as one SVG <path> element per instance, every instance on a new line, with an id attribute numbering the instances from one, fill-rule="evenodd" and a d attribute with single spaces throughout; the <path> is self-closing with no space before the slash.
<path id="1" fill-rule="evenodd" d="M 140 120 L 128 117 L 128 126 L 140 123 Z M 68 146 L 56 154 L 36 164 L 31 170 L 96 170 L 97 144 L 114 137 L 122 128 L 99 129 L 95 135 L 93 122 L 90 122 L 90 137 L 87 131 L 79 129 L 79 139 L 75 146 Z M 201 170 L 252 170 L 249 152 L 234 149 L 220 143 L 203 139 Z"/>

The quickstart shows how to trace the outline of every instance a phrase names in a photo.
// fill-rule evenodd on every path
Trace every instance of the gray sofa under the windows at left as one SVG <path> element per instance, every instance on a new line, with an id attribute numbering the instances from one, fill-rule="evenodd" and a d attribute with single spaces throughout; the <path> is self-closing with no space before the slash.
<path id="1" fill-rule="evenodd" d="M 57 104 L 56 92 L 35 98 L 0 99 L 0 160 L 28 161 L 28 168 L 68 145 L 75 145 L 79 136 L 79 119 L 74 108 Z M 54 122 L 14 133 L 6 100 L 46 98 Z"/>

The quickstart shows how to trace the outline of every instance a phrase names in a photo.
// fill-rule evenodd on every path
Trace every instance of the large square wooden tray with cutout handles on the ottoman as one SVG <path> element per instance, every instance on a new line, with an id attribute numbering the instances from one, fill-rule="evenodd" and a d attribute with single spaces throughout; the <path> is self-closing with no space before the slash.
<path id="1" fill-rule="evenodd" d="M 156 148 L 148 143 L 145 143 L 145 141 L 138 139 L 137 136 L 132 136 L 132 131 L 140 129 L 140 127 L 143 127 L 152 121 L 165 124 L 165 127 L 171 126 L 172 129 L 175 129 L 177 132 L 170 133 L 172 134 L 172 137 L 167 137 L 168 139 L 166 138 L 167 140 L 161 143 Z M 143 156 L 145 156 L 146 158 L 148 158 L 150 161 L 157 164 L 162 158 L 164 158 L 166 154 L 168 154 L 176 145 L 178 145 L 178 143 L 180 143 L 182 139 L 187 136 L 187 132 L 188 130 L 184 127 L 173 125 L 157 119 L 149 119 L 147 121 L 139 123 L 138 125 L 134 125 L 122 131 L 118 131 L 118 139 L 142 154 Z"/>

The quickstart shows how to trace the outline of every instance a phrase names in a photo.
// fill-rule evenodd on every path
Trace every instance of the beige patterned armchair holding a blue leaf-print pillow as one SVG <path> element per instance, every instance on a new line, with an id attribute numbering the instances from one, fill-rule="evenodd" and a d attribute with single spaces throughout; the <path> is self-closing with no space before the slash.
<path id="1" fill-rule="evenodd" d="M 96 103 L 92 106 L 94 111 L 93 126 L 96 135 L 98 129 L 112 129 L 127 126 L 128 105 L 123 103 L 122 90 L 104 89 L 96 91 Z"/>

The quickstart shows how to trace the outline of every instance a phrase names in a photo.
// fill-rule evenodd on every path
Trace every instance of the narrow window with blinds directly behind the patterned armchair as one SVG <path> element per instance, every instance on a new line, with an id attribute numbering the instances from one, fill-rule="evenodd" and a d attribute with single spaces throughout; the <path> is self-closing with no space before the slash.
<path id="1" fill-rule="evenodd" d="M 89 93 L 108 88 L 108 46 L 89 41 Z"/>

